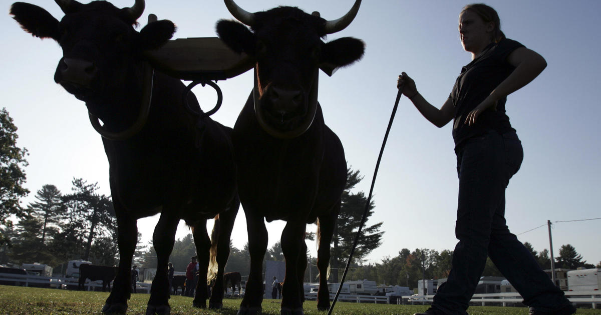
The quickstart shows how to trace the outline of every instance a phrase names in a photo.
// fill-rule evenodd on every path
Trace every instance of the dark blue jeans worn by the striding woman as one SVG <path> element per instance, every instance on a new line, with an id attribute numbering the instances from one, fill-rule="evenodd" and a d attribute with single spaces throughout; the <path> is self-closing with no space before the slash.
<path id="1" fill-rule="evenodd" d="M 541 311 L 569 304 L 505 222 L 505 188 L 523 159 L 517 134 L 489 131 L 469 139 L 456 154 L 459 242 L 447 282 L 438 289 L 432 307 L 445 314 L 467 314 L 486 256 L 522 295 L 523 304 Z"/>

